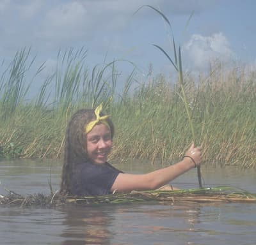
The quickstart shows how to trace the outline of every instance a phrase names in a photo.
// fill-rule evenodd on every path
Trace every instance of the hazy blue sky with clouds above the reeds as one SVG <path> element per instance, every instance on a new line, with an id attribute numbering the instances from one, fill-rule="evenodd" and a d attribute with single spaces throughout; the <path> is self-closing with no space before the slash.
<path id="1" fill-rule="evenodd" d="M 160 10 L 172 32 L 156 11 L 137 11 L 144 5 Z M 89 67 L 125 59 L 141 75 L 150 65 L 169 73 L 170 61 L 152 44 L 173 57 L 173 35 L 186 70 L 205 71 L 216 59 L 255 66 L 255 10 L 255 0 L 0 0 L 0 62 L 30 47 L 46 75 L 59 50 L 84 47 Z M 133 68 L 129 62 L 120 62 L 121 73 Z"/>

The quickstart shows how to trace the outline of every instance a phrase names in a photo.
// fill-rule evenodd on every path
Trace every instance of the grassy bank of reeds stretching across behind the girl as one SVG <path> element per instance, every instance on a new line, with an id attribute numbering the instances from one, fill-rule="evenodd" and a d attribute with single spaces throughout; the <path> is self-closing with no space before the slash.
<path id="1" fill-rule="evenodd" d="M 29 101 L 28 50 L 18 52 L 0 74 L 0 158 L 61 158 L 70 116 L 101 102 L 116 129 L 112 159 L 154 163 L 182 157 L 193 137 L 177 81 L 148 75 L 131 91 L 137 79 L 132 71 L 120 91 L 118 61 L 89 71 L 86 51 L 59 56 L 56 71 Z M 203 164 L 256 168 L 256 71 L 227 70 L 221 64 L 212 70 L 184 75 L 195 134 L 204 146 Z"/>

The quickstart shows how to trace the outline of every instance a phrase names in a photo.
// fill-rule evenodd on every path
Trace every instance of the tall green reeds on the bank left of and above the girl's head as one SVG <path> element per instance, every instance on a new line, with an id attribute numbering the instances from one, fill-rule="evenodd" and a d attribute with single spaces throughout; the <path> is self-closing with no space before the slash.
<path id="1" fill-rule="evenodd" d="M 35 96 L 29 100 L 28 73 L 34 60 L 27 65 L 29 51 L 17 52 L 0 80 L 0 157 L 58 158 L 71 114 L 102 101 L 105 106 L 111 105 L 118 78 L 115 62 L 95 66 L 90 74 L 86 52 L 83 48 L 59 52 L 56 70 L 49 73 L 38 94 L 34 91 Z M 44 64 L 36 75 L 43 69 Z M 34 80 L 38 79 L 36 75 Z"/>

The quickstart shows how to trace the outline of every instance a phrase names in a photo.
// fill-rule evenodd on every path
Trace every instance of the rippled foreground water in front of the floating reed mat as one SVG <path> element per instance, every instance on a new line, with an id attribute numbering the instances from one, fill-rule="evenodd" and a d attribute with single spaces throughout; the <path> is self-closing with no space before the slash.
<path id="1" fill-rule="evenodd" d="M 255 218 L 255 204 L 0 207 L 0 243 L 254 245 Z"/>

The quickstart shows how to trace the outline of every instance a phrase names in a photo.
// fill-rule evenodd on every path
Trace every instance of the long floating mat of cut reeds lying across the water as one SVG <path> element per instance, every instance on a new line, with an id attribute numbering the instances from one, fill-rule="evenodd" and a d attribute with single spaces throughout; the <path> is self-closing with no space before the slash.
<path id="1" fill-rule="evenodd" d="M 99 204 L 129 204 L 129 203 L 158 202 L 162 204 L 179 203 L 254 203 L 256 194 L 248 193 L 243 189 L 229 186 L 199 189 L 179 189 L 173 191 L 132 191 L 131 193 L 112 194 L 91 197 L 70 197 L 59 193 L 54 195 L 28 195 L 23 197 L 10 192 L 9 195 L 0 195 L 0 205 L 7 207 L 47 207 L 54 208 L 65 205 L 99 205 Z"/>

